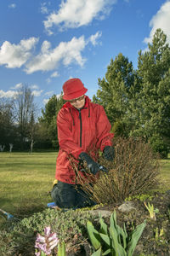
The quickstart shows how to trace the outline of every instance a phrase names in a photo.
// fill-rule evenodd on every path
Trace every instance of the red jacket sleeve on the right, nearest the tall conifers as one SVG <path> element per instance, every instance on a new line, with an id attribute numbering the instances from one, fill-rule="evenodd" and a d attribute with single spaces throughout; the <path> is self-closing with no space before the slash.
<path id="1" fill-rule="evenodd" d="M 99 106 L 98 110 L 97 147 L 103 151 L 105 146 L 112 146 L 112 138 L 114 137 L 114 134 L 111 133 L 111 123 L 106 116 L 105 109 L 102 106 Z"/>

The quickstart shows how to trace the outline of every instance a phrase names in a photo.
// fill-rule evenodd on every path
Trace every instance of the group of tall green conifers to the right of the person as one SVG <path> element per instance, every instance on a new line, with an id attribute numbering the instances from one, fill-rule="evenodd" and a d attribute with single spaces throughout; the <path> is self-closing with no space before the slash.
<path id="1" fill-rule="evenodd" d="M 138 69 L 119 54 L 99 79 L 94 102 L 102 104 L 112 131 L 143 137 L 156 152 L 170 150 L 170 47 L 167 36 L 156 30 L 148 49 L 139 51 Z"/>

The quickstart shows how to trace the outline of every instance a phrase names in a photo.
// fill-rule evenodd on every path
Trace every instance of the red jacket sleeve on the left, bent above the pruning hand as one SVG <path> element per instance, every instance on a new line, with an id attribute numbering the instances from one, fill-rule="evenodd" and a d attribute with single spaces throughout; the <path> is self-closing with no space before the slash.
<path id="1" fill-rule="evenodd" d="M 59 139 L 59 148 L 68 154 L 72 154 L 76 159 L 82 153 L 82 148 L 74 142 L 71 133 L 71 122 L 68 119 L 68 113 L 62 109 L 57 116 L 57 131 Z"/>

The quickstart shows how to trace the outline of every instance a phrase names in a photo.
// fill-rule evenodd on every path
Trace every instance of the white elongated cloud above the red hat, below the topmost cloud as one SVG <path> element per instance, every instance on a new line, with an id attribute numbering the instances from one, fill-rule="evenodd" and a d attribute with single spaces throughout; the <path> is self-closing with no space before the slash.
<path id="1" fill-rule="evenodd" d="M 34 73 L 36 71 L 54 70 L 59 65 L 59 61 L 65 66 L 76 62 L 81 67 L 86 61 L 82 58 L 81 52 L 85 48 L 86 42 L 84 36 L 80 38 L 72 38 L 70 42 L 61 42 L 59 45 L 51 49 L 48 41 L 42 43 L 41 53 L 26 63 L 26 73 Z"/>

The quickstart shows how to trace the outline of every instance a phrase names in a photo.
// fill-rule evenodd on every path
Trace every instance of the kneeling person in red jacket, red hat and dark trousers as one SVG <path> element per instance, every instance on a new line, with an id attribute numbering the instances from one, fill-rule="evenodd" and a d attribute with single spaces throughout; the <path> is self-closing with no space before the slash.
<path id="1" fill-rule="evenodd" d="M 78 183 L 70 156 L 77 162 L 85 161 L 94 176 L 98 175 L 101 168 L 96 162 L 99 149 L 103 151 L 106 160 L 113 160 L 114 157 L 111 124 L 104 108 L 85 96 L 87 91 L 80 79 L 69 79 L 63 85 L 63 99 L 67 102 L 57 116 L 59 154 L 55 175 L 57 183 L 52 190 L 54 202 L 61 208 L 89 207 L 95 204 Z M 78 172 L 84 177 L 81 170 Z"/>

